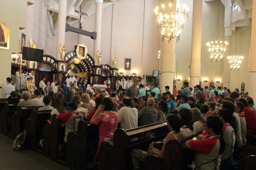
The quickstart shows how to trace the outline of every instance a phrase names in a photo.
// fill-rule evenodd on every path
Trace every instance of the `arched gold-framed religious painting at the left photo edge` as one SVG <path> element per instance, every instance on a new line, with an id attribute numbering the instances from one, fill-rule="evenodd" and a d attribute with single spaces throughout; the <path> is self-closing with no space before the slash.
<path id="1" fill-rule="evenodd" d="M 10 29 L 6 23 L 0 21 L 0 48 L 9 50 Z"/>

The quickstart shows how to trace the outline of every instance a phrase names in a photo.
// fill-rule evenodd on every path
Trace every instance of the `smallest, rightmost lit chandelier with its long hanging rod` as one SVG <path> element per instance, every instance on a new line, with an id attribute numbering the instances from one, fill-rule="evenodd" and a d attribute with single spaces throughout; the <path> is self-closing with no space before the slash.
<path id="1" fill-rule="evenodd" d="M 238 8 L 237 8 L 238 11 Z M 238 14 L 238 13 L 237 13 Z M 237 26 L 236 26 L 237 29 Z M 237 30 L 236 30 L 236 49 L 235 49 L 235 55 L 228 56 L 228 63 L 230 66 L 230 70 L 239 70 L 241 63 L 243 62 L 244 57 L 237 54 Z"/>

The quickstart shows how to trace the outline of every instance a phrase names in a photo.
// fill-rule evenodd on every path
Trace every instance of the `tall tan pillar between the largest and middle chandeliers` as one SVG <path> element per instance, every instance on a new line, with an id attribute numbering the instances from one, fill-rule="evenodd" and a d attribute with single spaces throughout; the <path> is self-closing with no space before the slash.
<path id="1" fill-rule="evenodd" d="M 201 34 L 202 34 L 203 1 L 193 1 L 191 62 L 189 70 L 189 87 L 199 84 L 201 75 Z"/>

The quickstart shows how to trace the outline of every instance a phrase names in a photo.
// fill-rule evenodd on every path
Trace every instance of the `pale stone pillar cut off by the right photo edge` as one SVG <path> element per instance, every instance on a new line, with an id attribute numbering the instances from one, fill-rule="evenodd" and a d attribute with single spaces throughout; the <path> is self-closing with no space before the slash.
<path id="1" fill-rule="evenodd" d="M 249 96 L 256 99 L 256 3 L 253 3 L 252 37 L 249 51 Z"/>

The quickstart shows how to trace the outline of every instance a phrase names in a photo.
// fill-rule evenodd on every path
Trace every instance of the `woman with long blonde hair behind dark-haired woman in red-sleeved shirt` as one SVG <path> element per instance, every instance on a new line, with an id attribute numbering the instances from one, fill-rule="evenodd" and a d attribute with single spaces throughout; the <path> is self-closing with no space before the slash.
<path id="1" fill-rule="evenodd" d="M 196 133 L 202 132 L 204 130 L 204 127 L 203 127 L 204 120 L 200 110 L 198 108 L 191 108 L 190 111 L 192 112 L 192 120 L 194 122 L 193 124 L 194 133 L 196 134 Z"/>

